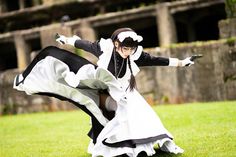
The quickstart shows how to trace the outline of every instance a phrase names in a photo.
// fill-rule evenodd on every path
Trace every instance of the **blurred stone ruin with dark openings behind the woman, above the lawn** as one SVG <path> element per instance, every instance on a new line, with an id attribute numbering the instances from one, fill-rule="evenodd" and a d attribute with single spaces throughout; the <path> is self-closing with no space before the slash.
<path id="1" fill-rule="evenodd" d="M 120 27 L 142 35 L 153 55 L 204 56 L 188 68 L 142 68 L 138 90 L 151 105 L 236 100 L 235 0 L 0 0 L 0 115 L 76 109 L 12 89 L 15 75 L 49 45 L 96 62 L 55 34 L 96 41 Z"/>

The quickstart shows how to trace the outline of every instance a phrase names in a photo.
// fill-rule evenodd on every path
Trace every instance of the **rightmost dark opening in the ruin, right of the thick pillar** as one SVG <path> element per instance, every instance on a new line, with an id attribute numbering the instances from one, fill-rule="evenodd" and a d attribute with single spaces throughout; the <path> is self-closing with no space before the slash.
<path id="1" fill-rule="evenodd" d="M 217 40 L 218 22 L 226 18 L 224 4 L 178 12 L 173 16 L 178 42 Z"/>

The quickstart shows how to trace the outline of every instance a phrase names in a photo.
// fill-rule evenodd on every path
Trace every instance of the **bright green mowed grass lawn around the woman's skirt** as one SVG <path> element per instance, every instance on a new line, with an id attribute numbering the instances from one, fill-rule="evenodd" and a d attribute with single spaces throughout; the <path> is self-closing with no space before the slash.
<path id="1" fill-rule="evenodd" d="M 182 155 L 157 150 L 153 157 L 236 156 L 236 101 L 153 109 L 185 150 Z M 89 129 L 89 117 L 82 111 L 2 116 L 0 157 L 90 157 Z"/>

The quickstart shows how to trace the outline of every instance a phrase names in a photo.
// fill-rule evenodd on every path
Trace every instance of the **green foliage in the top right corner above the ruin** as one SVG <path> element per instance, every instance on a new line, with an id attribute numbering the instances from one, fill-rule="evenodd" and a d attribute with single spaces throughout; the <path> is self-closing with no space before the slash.
<path id="1" fill-rule="evenodd" d="M 236 18 L 236 0 L 225 0 L 225 11 L 228 18 Z"/>

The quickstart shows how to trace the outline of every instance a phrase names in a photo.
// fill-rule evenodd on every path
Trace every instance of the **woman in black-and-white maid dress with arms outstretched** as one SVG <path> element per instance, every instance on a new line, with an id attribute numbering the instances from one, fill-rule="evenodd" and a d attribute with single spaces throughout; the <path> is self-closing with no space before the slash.
<path id="1" fill-rule="evenodd" d="M 150 105 L 135 89 L 134 76 L 141 66 L 187 66 L 189 58 L 164 58 L 143 52 L 142 37 L 130 28 L 117 29 L 109 39 L 98 42 L 78 36 L 58 35 L 56 41 L 69 44 L 98 57 L 97 65 L 56 47 L 47 47 L 27 69 L 17 75 L 14 88 L 27 94 L 54 96 L 74 103 L 91 116 L 93 157 L 140 152 L 155 154 L 154 145 L 163 151 L 183 153 Z"/>

